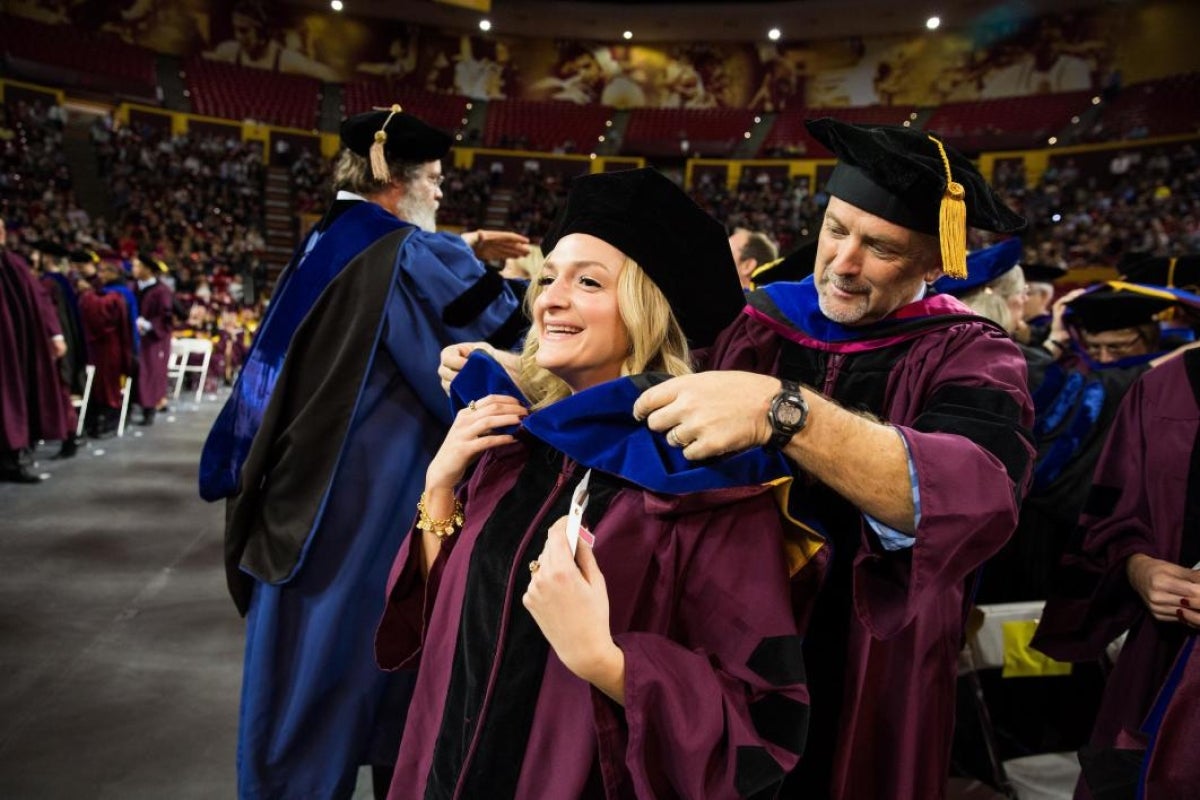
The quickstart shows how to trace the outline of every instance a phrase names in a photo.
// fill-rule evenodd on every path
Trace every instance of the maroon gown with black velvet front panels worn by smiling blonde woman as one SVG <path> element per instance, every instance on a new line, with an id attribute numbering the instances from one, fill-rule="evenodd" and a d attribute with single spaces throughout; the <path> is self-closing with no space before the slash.
<path id="1" fill-rule="evenodd" d="M 665 494 L 593 469 L 584 523 L 625 655 L 620 706 L 521 602 L 583 473 L 521 432 L 479 462 L 427 582 L 430 534 L 404 540 L 376 638 L 384 668 L 420 664 L 391 800 L 772 796 L 797 763 L 808 692 L 770 488 Z"/>

